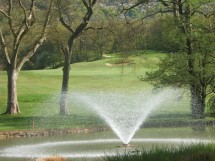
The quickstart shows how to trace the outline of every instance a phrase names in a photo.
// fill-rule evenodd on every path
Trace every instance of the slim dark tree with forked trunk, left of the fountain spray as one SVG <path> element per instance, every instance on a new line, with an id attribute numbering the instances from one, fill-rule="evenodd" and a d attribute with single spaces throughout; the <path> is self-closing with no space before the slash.
<path id="1" fill-rule="evenodd" d="M 70 63 L 73 51 L 73 44 L 75 39 L 86 29 L 90 21 L 91 16 L 93 15 L 93 6 L 96 4 L 97 0 L 82 0 L 82 4 L 76 3 L 75 6 L 68 4 L 68 1 L 57 0 L 57 6 L 60 16 L 61 24 L 69 31 L 70 35 L 67 40 L 66 45 L 63 47 L 64 54 L 64 66 L 63 66 L 63 81 L 61 89 L 61 98 L 60 98 L 60 114 L 67 114 L 67 93 L 68 93 L 68 83 L 69 83 L 69 72 L 70 72 Z M 74 2 L 73 2 L 74 3 Z M 84 6 L 84 8 L 83 8 Z M 84 13 L 83 15 L 76 15 L 72 12 L 72 9 L 76 11 L 80 9 L 80 12 Z M 76 19 L 78 18 L 78 19 Z"/>

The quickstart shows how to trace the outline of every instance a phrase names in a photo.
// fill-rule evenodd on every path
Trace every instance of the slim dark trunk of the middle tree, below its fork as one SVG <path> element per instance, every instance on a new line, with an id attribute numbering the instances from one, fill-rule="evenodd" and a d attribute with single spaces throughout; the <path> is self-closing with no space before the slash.
<path id="1" fill-rule="evenodd" d="M 62 89 L 61 89 L 61 98 L 60 98 L 60 114 L 66 115 L 67 114 L 67 93 L 69 87 L 69 72 L 70 72 L 70 62 L 72 56 L 71 48 L 66 50 L 67 52 L 64 53 L 64 66 L 63 66 L 63 81 L 62 81 Z"/>

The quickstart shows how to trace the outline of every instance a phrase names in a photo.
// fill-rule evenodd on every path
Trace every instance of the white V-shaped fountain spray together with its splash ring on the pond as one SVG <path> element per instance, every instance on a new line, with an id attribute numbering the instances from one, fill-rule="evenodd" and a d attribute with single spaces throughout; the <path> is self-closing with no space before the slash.
<path id="1" fill-rule="evenodd" d="M 140 126 L 150 113 L 158 108 L 164 101 L 169 101 L 176 96 L 178 91 L 163 90 L 157 93 L 142 91 L 76 91 L 68 95 L 68 105 L 87 107 L 97 113 L 111 127 L 119 139 L 97 136 L 85 139 L 71 138 L 37 138 L 36 140 L 23 139 L 13 142 L 7 141 L 0 146 L 0 160 L 23 160 L 23 158 L 40 158 L 51 155 L 60 155 L 66 158 L 101 157 L 116 155 L 125 149 L 133 150 L 138 147 L 149 148 L 150 145 L 168 143 L 195 144 L 209 143 L 207 139 L 191 138 L 133 138 Z M 54 100 L 58 100 L 54 98 Z M 54 102 L 56 104 L 56 102 Z M 77 134 L 78 136 L 81 134 Z M 95 134 L 94 134 L 95 135 Z M 79 138 L 79 137 L 78 137 Z M 84 136 L 86 138 L 86 136 Z M 57 141 L 56 141 L 57 140 Z M 11 142 L 10 142 L 11 143 Z M 123 144 L 122 144 L 123 143 Z M 9 144 L 9 145 L 7 145 Z M 122 144 L 119 146 L 119 144 Z M 136 146 L 137 145 L 137 146 Z"/>

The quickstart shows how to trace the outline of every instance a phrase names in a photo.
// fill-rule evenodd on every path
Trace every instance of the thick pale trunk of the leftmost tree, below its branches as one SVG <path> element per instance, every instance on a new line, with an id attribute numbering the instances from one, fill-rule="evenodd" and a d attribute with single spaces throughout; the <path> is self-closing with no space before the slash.
<path id="1" fill-rule="evenodd" d="M 15 69 L 8 69 L 8 98 L 7 98 L 7 110 L 5 114 L 17 114 L 20 113 L 19 104 L 17 100 L 17 76 L 18 72 Z"/>

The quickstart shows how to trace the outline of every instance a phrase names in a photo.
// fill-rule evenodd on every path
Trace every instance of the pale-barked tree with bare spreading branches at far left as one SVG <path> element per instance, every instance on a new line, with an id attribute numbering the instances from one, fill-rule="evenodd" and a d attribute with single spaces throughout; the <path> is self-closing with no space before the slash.
<path id="1" fill-rule="evenodd" d="M 6 21 L 6 26 L 0 28 L 0 45 L 6 61 L 8 78 L 8 98 L 5 114 L 20 112 L 17 100 L 18 74 L 23 65 L 45 41 L 52 3 L 53 0 L 50 1 L 42 24 L 36 23 L 35 0 L 4 1 L 2 9 L 0 9 L 0 13 Z M 39 36 L 32 35 L 36 30 L 35 27 L 40 28 L 40 31 L 37 30 L 38 33 L 36 33 Z M 26 40 L 29 38 L 31 41 L 28 45 Z"/>

